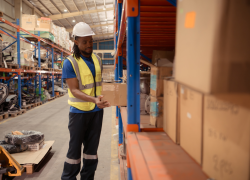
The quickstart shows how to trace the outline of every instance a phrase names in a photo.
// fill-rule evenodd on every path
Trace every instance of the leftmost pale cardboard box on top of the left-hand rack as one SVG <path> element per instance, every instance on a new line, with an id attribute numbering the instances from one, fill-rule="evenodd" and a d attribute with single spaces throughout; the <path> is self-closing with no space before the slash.
<path id="1" fill-rule="evenodd" d="M 37 25 L 37 16 L 36 15 L 22 15 L 22 28 L 25 30 L 34 31 L 35 28 L 38 27 Z"/>

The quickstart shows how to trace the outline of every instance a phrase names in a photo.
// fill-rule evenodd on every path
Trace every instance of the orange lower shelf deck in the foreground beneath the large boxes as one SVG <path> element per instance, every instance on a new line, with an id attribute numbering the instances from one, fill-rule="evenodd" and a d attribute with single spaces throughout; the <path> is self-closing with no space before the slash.
<path id="1" fill-rule="evenodd" d="M 207 180 L 200 166 L 165 132 L 128 133 L 128 154 L 136 180 Z"/>

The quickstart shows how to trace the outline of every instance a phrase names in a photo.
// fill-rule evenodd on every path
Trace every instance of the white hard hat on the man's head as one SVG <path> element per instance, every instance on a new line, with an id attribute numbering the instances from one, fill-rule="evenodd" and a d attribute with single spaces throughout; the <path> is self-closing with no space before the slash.
<path id="1" fill-rule="evenodd" d="M 79 36 L 79 37 L 85 37 L 85 36 L 93 36 L 95 33 L 92 31 L 91 27 L 86 24 L 85 22 L 79 22 L 77 23 L 72 32 L 72 37 Z"/>

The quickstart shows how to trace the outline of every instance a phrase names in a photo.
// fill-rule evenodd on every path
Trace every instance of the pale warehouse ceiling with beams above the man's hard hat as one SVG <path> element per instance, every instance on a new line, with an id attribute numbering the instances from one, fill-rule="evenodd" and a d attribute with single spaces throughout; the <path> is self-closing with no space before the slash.
<path id="1" fill-rule="evenodd" d="M 57 26 L 72 32 L 74 25 L 85 22 L 95 32 L 94 40 L 112 39 L 113 0 L 28 0 Z"/>

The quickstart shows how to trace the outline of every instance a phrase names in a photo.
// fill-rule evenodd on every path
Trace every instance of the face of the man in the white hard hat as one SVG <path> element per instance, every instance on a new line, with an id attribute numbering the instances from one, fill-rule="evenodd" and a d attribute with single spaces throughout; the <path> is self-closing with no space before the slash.
<path id="1" fill-rule="evenodd" d="M 83 55 L 90 56 L 92 54 L 93 52 L 92 36 L 78 37 L 75 40 L 75 44 L 78 46 Z"/>

